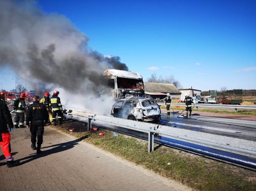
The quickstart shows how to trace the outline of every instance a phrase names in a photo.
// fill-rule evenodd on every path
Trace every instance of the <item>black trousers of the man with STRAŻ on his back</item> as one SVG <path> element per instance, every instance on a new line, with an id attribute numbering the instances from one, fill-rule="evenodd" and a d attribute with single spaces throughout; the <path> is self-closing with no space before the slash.
<path id="1" fill-rule="evenodd" d="M 31 143 L 36 143 L 41 145 L 43 143 L 43 134 L 44 134 L 44 121 L 32 121 L 30 122 L 30 132 L 31 132 Z"/>

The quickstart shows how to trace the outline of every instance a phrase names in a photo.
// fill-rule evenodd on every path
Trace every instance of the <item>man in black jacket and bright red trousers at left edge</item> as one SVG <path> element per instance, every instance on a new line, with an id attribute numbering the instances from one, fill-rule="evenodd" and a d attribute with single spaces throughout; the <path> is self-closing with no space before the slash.
<path id="1" fill-rule="evenodd" d="M 8 131 L 7 124 L 10 131 Z M 13 157 L 11 156 L 11 131 L 13 131 L 11 113 L 8 106 L 4 104 L 2 100 L 0 100 L 0 145 L 7 160 L 7 167 L 17 166 L 17 164 L 20 163 L 20 161 L 14 161 Z"/>

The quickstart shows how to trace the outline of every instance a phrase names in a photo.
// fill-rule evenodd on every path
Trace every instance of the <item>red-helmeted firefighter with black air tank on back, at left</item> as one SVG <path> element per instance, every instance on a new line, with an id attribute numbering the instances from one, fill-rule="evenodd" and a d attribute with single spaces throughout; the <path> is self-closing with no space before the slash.
<path id="1" fill-rule="evenodd" d="M 15 110 L 15 117 L 14 117 L 14 127 L 15 128 L 24 128 L 24 121 L 25 121 L 25 111 L 27 109 L 25 103 L 25 93 L 20 94 L 18 108 Z M 18 126 L 19 125 L 19 126 Z"/>

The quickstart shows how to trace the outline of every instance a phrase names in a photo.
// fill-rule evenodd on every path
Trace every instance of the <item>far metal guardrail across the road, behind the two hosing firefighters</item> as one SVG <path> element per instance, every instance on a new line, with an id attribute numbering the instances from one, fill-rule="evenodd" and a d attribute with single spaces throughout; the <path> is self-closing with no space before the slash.
<path id="1" fill-rule="evenodd" d="M 158 105 L 165 105 L 165 103 L 157 103 Z M 184 106 L 185 103 L 172 103 L 173 106 Z M 193 105 L 192 105 L 193 107 Z M 228 104 L 194 104 L 194 107 L 198 109 L 198 107 L 212 107 L 212 108 L 227 108 L 227 109 L 248 109 L 248 110 L 256 110 L 256 106 L 254 105 L 228 105 Z"/>

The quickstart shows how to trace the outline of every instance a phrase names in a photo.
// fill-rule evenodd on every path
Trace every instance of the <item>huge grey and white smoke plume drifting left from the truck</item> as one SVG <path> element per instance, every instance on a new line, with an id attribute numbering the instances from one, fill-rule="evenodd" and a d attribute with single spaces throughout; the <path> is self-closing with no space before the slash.
<path id="1" fill-rule="evenodd" d="M 119 57 L 92 51 L 88 40 L 69 19 L 44 13 L 36 1 L 0 1 L 0 66 L 41 93 L 58 90 L 62 104 L 103 114 L 114 102 L 102 73 L 128 67 Z"/>

